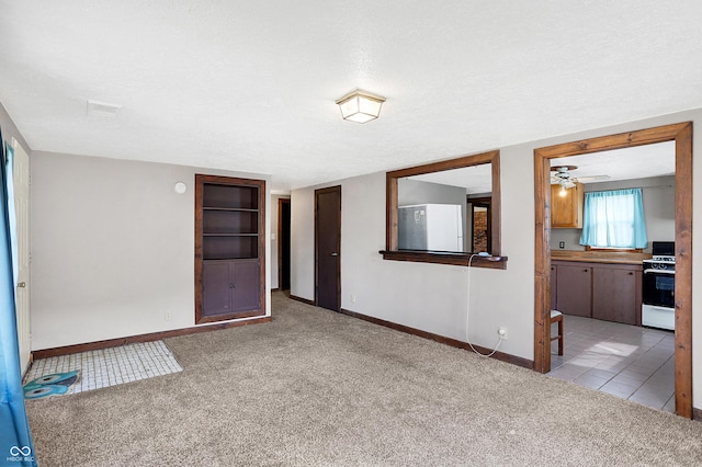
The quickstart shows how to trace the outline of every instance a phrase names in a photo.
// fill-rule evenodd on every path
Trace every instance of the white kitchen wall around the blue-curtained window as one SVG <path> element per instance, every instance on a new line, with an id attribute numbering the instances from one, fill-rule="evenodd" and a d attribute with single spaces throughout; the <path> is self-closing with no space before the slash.
<path id="1" fill-rule="evenodd" d="M 676 178 L 655 176 L 650 179 L 601 182 L 585 185 L 586 192 L 641 187 L 646 219 L 648 247 L 653 241 L 673 241 L 676 239 Z M 558 250 L 558 242 L 565 242 L 565 250 L 585 250 L 579 243 L 582 229 L 552 229 L 551 248 Z"/>

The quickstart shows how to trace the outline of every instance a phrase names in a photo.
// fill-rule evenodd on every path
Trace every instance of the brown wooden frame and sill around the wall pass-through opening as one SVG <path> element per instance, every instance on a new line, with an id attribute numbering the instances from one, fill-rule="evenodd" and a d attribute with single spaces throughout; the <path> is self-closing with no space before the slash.
<path id="1" fill-rule="evenodd" d="M 384 260 L 414 261 L 423 263 L 467 265 L 469 254 L 448 255 L 431 251 L 406 252 L 397 249 L 397 181 L 405 176 L 419 175 L 423 173 L 442 172 L 445 170 L 462 169 L 471 166 L 484 163 L 491 164 L 491 249 L 490 253 L 501 257 L 501 203 L 500 203 L 500 151 L 494 150 L 474 156 L 464 156 L 457 159 L 444 160 L 440 162 L 427 163 L 423 166 L 410 167 L 407 169 L 387 172 L 386 200 L 385 200 L 385 250 L 382 250 Z M 505 259 L 507 257 L 503 257 Z M 471 264 L 475 267 L 507 269 L 507 262 L 499 262 L 499 265 L 488 262 L 476 262 Z"/>

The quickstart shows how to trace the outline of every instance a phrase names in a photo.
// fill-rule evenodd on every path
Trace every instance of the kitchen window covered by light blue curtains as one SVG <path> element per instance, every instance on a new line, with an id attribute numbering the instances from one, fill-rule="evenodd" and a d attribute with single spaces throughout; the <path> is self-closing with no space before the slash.
<path id="1" fill-rule="evenodd" d="M 580 244 L 634 249 L 647 242 L 641 189 L 585 194 Z"/>

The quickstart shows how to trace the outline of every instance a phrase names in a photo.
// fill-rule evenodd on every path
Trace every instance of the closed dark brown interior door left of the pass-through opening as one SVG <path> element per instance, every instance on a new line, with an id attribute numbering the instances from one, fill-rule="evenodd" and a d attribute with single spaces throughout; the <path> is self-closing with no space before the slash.
<path id="1" fill-rule="evenodd" d="M 341 186 L 315 191 L 317 306 L 341 309 Z"/>

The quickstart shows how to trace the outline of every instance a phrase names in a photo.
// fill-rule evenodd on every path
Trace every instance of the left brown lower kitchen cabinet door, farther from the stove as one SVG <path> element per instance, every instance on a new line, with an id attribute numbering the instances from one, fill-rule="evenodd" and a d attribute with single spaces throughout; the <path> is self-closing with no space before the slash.
<path id="1" fill-rule="evenodd" d="M 592 267 L 558 264 L 556 309 L 566 315 L 590 317 Z"/>

